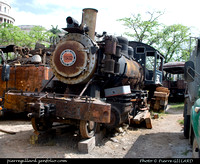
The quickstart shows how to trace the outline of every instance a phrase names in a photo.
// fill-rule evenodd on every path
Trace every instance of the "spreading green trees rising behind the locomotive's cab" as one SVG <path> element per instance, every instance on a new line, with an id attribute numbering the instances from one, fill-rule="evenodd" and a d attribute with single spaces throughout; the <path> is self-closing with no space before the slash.
<path id="1" fill-rule="evenodd" d="M 185 61 L 189 57 L 191 29 L 182 24 L 166 26 L 159 23 L 158 19 L 163 14 L 161 11 L 147 12 L 149 18 L 146 20 L 137 14 L 119 21 L 129 30 L 125 35 L 155 47 L 165 56 L 165 62 Z"/>

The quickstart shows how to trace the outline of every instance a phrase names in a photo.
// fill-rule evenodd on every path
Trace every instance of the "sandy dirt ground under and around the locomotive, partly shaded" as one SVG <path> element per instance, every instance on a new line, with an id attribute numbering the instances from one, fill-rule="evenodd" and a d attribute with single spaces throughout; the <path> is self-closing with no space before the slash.
<path id="1" fill-rule="evenodd" d="M 0 158 L 191 158 L 192 149 L 183 136 L 182 110 L 168 107 L 167 114 L 152 119 L 152 129 L 120 128 L 107 134 L 89 154 L 78 151 L 80 135 L 73 128 L 59 128 L 46 142 L 31 144 L 29 121 L 0 120 Z"/>

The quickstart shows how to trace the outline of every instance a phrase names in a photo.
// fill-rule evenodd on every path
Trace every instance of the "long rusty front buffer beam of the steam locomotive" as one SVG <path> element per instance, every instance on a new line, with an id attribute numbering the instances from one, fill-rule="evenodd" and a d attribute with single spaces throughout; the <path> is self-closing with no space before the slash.
<path id="1" fill-rule="evenodd" d="M 33 93 L 13 93 L 9 92 L 5 95 L 6 109 L 11 109 L 14 111 L 27 111 L 34 112 L 35 108 L 29 106 L 28 104 L 34 104 L 37 99 L 42 94 L 35 95 Z M 109 123 L 111 115 L 111 105 L 104 103 L 97 99 L 89 99 L 86 97 L 79 98 L 62 98 L 54 96 L 43 97 L 41 99 L 42 103 L 54 104 L 56 106 L 55 117 L 78 119 L 78 120 L 88 120 L 95 121 L 99 123 Z M 39 111 L 36 111 L 39 112 Z"/>

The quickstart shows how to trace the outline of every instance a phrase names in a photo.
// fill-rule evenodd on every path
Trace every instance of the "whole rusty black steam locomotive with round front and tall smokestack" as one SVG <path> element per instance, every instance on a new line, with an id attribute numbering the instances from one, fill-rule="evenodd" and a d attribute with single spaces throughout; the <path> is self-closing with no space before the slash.
<path id="1" fill-rule="evenodd" d="M 28 111 L 36 131 L 63 122 L 79 125 L 82 137 L 90 138 L 98 123 L 113 128 L 146 109 L 161 84 L 163 56 L 124 37 L 95 34 L 96 15 L 83 9 L 81 24 L 67 17 L 67 34 L 51 55 L 54 75 L 40 91 L 5 94 L 12 102 L 4 107 L 14 103 Z"/>

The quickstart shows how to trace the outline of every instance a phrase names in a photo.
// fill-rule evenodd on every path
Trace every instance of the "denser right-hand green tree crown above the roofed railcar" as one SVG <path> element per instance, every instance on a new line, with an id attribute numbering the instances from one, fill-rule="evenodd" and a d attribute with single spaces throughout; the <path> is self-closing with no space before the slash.
<path id="1" fill-rule="evenodd" d="M 157 48 L 165 55 L 165 62 L 186 61 L 189 57 L 190 28 L 182 24 L 165 26 Z"/>

